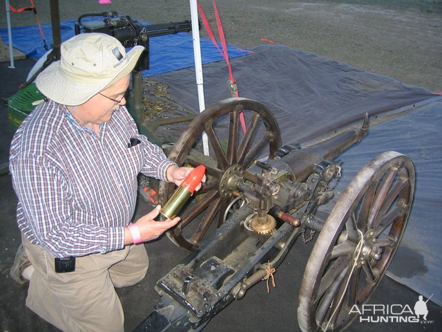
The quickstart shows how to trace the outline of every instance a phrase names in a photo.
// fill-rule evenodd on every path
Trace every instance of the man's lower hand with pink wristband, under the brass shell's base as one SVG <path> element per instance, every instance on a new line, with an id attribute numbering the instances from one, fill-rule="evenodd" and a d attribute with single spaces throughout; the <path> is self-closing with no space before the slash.
<path id="1" fill-rule="evenodd" d="M 143 242 L 157 239 L 157 237 L 160 237 L 161 234 L 163 234 L 166 230 L 169 230 L 169 228 L 173 227 L 178 221 L 180 221 L 179 216 L 175 216 L 175 218 L 172 220 L 167 219 L 166 221 L 153 220 L 158 216 L 160 210 L 161 205 L 157 205 L 155 209 L 136 221 L 136 225 L 140 231 Z M 128 227 L 124 228 L 124 244 L 131 244 L 133 242 L 131 231 Z"/>

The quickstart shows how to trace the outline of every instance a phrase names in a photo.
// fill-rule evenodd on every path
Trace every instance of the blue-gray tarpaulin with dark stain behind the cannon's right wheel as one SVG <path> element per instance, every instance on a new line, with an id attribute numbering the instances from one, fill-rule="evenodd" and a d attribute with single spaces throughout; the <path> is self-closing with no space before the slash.
<path id="1" fill-rule="evenodd" d="M 369 128 L 368 135 L 340 155 L 343 176 L 336 197 L 368 160 L 394 150 L 412 158 L 416 169 L 414 203 L 401 246 L 387 275 L 442 304 L 442 102 L 432 102 Z M 332 210 L 336 199 L 325 209 Z"/>

